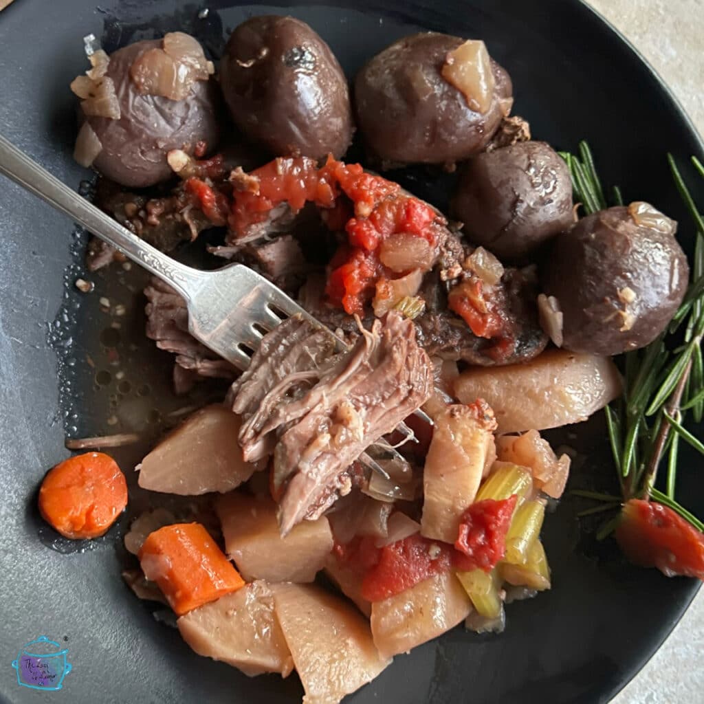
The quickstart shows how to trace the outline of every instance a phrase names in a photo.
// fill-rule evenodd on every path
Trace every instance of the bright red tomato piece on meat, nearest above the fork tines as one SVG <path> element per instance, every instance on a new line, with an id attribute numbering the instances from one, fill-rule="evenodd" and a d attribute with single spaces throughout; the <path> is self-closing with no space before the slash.
<path id="1" fill-rule="evenodd" d="M 365 303 L 374 296 L 377 279 L 383 267 L 376 256 L 363 249 L 344 248 L 350 252 L 344 264 L 337 266 L 340 256 L 332 260 L 333 268 L 327 279 L 325 294 L 332 303 L 342 306 L 346 313 L 363 315 Z"/>

